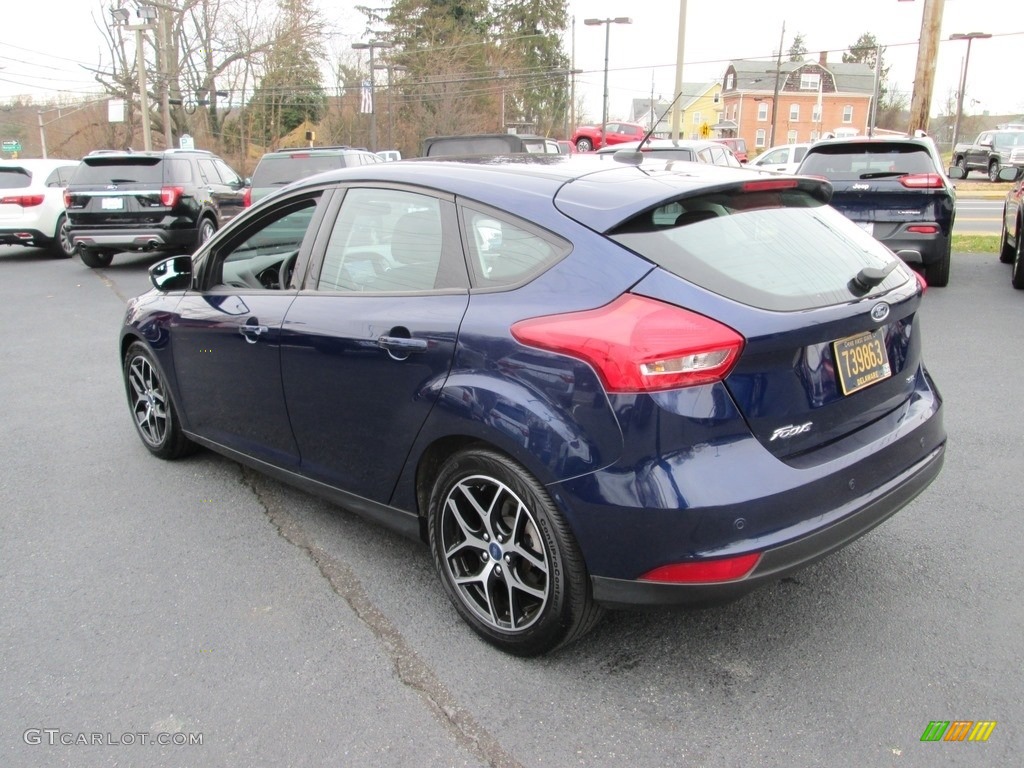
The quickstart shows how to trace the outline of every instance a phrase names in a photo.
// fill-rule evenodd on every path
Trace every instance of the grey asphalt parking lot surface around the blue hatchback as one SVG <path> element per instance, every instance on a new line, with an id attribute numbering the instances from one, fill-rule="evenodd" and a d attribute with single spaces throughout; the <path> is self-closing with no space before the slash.
<path id="1" fill-rule="evenodd" d="M 153 261 L 0 250 L 0 765 L 1020 764 L 1024 292 L 994 254 L 925 298 L 949 445 L 924 495 L 741 601 L 532 660 L 463 625 L 425 546 L 150 457 L 116 343 Z"/>

